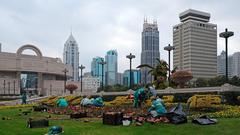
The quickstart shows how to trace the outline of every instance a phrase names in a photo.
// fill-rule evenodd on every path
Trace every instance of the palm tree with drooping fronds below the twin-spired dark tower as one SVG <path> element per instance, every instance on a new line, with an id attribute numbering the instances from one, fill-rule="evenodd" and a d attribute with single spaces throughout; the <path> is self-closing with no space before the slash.
<path id="1" fill-rule="evenodd" d="M 157 89 L 166 88 L 166 79 L 167 79 L 167 71 L 168 71 L 168 64 L 164 60 L 156 59 L 157 65 L 152 67 L 148 64 L 139 65 L 137 68 L 149 68 L 148 74 L 151 74 L 154 78 L 154 85 Z"/>

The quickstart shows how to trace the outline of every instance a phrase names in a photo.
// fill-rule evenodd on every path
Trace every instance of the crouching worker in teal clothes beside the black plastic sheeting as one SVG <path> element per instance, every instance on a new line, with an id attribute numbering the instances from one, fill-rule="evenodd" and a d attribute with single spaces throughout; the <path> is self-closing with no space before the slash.
<path id="1" fill-rule="evenodd" d="M 148 109 L 148 112 L 153 117 L 164 116 L 167 113 L 166 108 L 164 107 L 164 102 L 161 98 L 152 98 L 152 106 Z"/>

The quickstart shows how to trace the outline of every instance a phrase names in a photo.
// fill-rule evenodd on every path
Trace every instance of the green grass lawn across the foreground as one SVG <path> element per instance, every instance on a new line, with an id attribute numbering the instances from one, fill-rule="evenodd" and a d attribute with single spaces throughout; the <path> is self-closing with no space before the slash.
<path id="1" fill-rule="evenodd" d="M 26 110 L 26 109 L 23 109 Z M 29 117 L 44 117 L 47 113 L 33 112 L 18 116 L 19 109 L 0 110 L 0 135 L 43 135 L 49 128 L 26 128 Z M 12 120 L 2 120 L 10 117 Z M 62 116 L 52 116 L 62 117 Z M 59 125 L 63 135 L 236 135 L 239 134 L 240 119 L 219 119 L 218 124 L 210 126 L 195 125 L 191 122 L 182 125 L 145 123 L 130 127 L 103 125 L 100 120 L 84 123 L 82 120 L 50 120 L 50 126 Z"/>

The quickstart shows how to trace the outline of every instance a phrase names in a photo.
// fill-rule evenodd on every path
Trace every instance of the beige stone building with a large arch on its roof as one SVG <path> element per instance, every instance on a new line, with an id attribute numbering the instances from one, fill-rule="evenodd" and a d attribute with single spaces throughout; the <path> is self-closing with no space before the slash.
<path id="1" fill-rule="evenodd" d="M 25 50 L 36 55 L 23 54 Z M 34 45 L 23 45 L 16 53 L 0 52 L 0 95 L 62 95 L 71 72 L 61 59 L 43 56 Z"/>

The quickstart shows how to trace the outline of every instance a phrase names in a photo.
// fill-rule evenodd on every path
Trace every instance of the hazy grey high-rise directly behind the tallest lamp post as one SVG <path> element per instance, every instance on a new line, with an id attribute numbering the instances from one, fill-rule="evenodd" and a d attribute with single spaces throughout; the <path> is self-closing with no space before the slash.
<path id="1" fill-rule="evenodd" d="M 217 75 L 226 75 L 226 53 L 222 51 L 220 55 L 217 56 Z M 233 57 L 228 56 L 228 77 L 233 76 Z"/>

